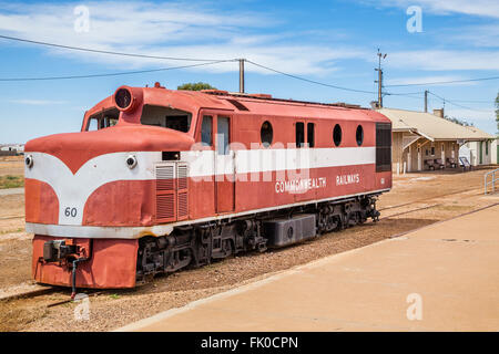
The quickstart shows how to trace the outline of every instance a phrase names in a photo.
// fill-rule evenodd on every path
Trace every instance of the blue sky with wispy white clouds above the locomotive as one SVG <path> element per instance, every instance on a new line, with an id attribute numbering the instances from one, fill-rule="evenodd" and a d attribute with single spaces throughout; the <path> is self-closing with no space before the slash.
<path id="1" fill-rule="evenodd" d="M 257 64 L 365 92 L 337 90 L 246 63 L 248 93 L 369 106 L 383 60 L 384 106 L 445 107 L 495 134 L 499 80 L 411 85 L 499 76 L 497 0 L 337 1 L 9 1 L 0 0 L 0 35 L 154 56 Z M 238 90 L 238 63 L 121 76 L 4 81 L 92 75 L 183 66 L 200 62 L 71 51 L 0 39 L 0 144 L 78 132 L 83 114 L 120 85 L 167 88 L 207 82 Z M 395 85 L 395 86 L 394 86 Z M 445 103 L 441 98 L 446 98 Z"/>

